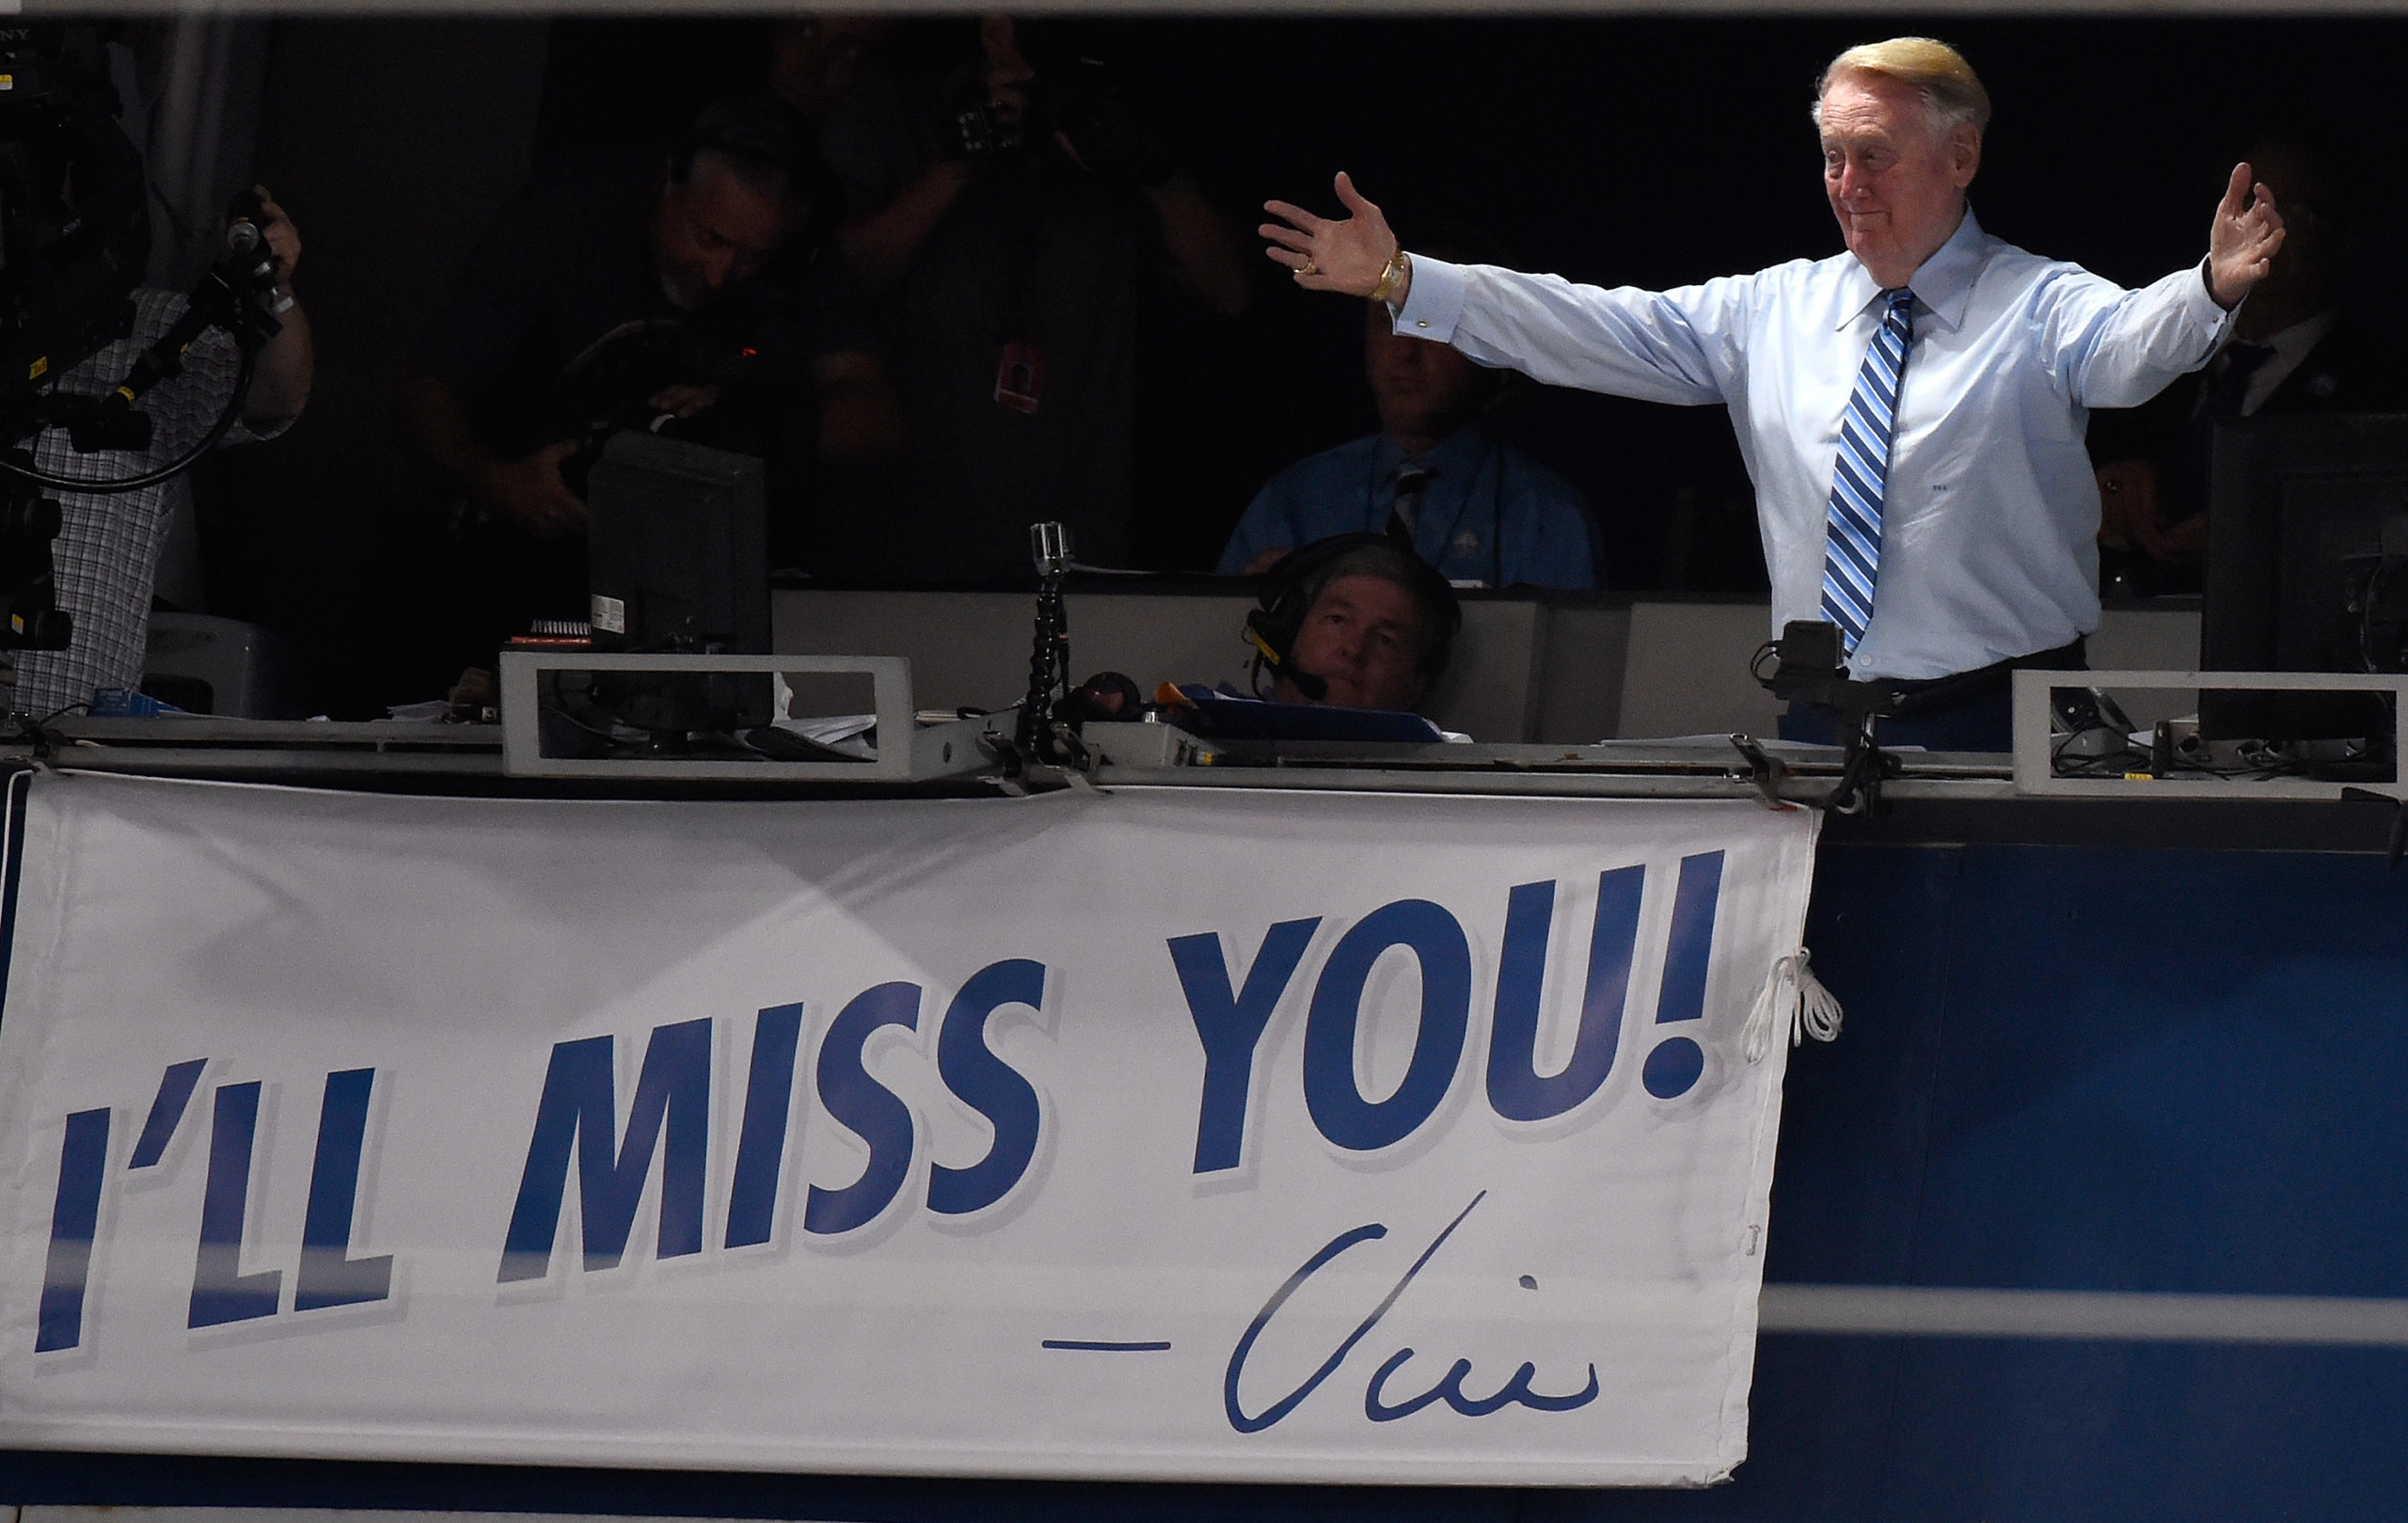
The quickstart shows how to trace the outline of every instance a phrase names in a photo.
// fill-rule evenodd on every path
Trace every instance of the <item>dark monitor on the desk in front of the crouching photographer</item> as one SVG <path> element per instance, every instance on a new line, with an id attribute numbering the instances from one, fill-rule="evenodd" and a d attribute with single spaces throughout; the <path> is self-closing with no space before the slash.
<path id="1" fill-rule="evenodd" d="M 597 651 L 768 655 L 761 460 L 628 429 L 585 506 Z"/>

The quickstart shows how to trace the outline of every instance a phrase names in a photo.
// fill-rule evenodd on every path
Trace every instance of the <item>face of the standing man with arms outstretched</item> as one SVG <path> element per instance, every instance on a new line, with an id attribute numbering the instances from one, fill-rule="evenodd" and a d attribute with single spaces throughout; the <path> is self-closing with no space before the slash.
<path id="1" fill-rule="evenodd" d="M 1842 75 L 1823 94 L 1823 193 L 1847 251 L 1883 289 L 1907 284 L 1958 229 L 1979 166 L 1972 125 L 1934 135 L 1912 84 Z"/>

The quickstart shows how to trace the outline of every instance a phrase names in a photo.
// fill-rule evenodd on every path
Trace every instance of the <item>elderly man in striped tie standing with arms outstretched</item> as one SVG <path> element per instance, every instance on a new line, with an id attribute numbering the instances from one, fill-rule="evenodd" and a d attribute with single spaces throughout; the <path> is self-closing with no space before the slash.
<path id="1" fill-rule="evenodd" d="M 1657 402 L 1727 402 L 1755 482 L 1772 629 L 1840 627 L 1849 675 L 1902 680 L 1883 740 L 2008 747 L 2015 665 L 2078 668 L 2097 627 L 2090 407 L 2199 369 L 2283 241 L 2239 164 L 2208 255 L 2138 292 L 2003 243 L 1965 188 L 1989 96 L 1931 39 L 1840 53 L 1813 106 L 1847 253 L 1674 292 L 1413 258 L 1341 174 L 1348 217 L 1269 202 L 1269 255 L 1387 301 L 1397 333 Z M 1784 735 L 1825 740 L 1813 713 Z"/>

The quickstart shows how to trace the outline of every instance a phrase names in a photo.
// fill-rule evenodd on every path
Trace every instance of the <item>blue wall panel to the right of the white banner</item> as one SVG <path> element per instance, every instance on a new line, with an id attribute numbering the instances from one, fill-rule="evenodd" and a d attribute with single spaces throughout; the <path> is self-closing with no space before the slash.
<path id="1" fill-rule="evenodd" d="M 2408 1296 L 2408 877 L 2379 858 L 1832 848 L 1808 942 L 1849 1022 L 1792 1068 L 1767 1277 Z M 1693 1516 L 2408 1496 L 2408 1349 L 1770 1335 L 1753 1412 Z"/>

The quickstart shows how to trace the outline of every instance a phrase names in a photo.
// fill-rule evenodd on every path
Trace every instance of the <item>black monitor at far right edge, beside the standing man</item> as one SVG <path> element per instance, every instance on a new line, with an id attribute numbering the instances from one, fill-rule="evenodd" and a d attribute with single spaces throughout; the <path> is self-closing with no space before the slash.
<path id="1" fill-rule="evenodd" d="M 2384 574 L 2398 559 L 2401 576 Z M 2199 665 L 2211 672 L 2401 670 L 2384 586 L 2408 593 L 2408 417 L 2215 424 Z M 2389 648 L 2384 648 L 2389 646 Z M 2211 740 L 2389 735 L 2369 694 L 2201 694 Z"/>

